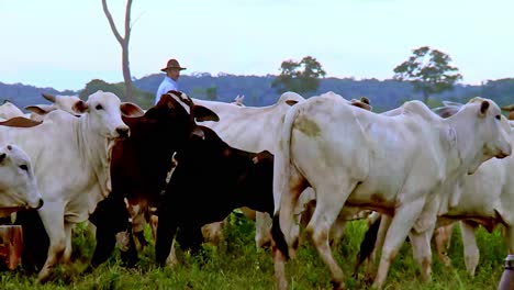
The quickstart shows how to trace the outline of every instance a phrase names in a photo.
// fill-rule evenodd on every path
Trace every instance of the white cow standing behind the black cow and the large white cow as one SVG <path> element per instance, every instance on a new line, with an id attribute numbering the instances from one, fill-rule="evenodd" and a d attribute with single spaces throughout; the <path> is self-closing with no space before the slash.
<path id="1" fill-rule="evenodd" d="M 340 99 L 344 102 L 351 103 L 357 107 L 371 110 L 369 101 L 351 100 L 347 101 L 342 96 L 332 91 L 322 96 L 327 98 Z M 201 104 L 214 111 L 219 116 L 219 122 L 204 122 L 202 125 L 209 126 L 225 141 L 228 145 L 248 152 L 269 150 L 271 154 L 276 152 L 277 136 L 281 134 L 282 120 L 286 112 L 291 108 L 291 104 L 302 102 L 305 99 L 295 92 L 284 92 L 280 96 L 276 104 L 269 107 L 234 107 L 233 104 L 223 102 L 212 102 L 193 99 L 195 104 Z M 295 214 L 300 215 L 303 211 L 303 205 L 314 199 L 314 193 L 311 188 L 308 188 L 302 194 L 302 201 L 295 209 Z M 248 215 L 247 212 L 245 214 Z M 252 214 L 252 213 L 250 213 Z M 338 225 L 335 226 L 333 237 L 335 241 L 343 235 L 343 224 L 350 216 L 355 215 L 355 211 L 346 211 L 338 219 Z M 221 235 L 221 223 L 210 225 L 205 232 L 213 239 L 219 239 Z M 271 242 L 269 235 L 271 227 L 271 219 L 267 213 L 256 213 L 256 236 L 255 242 L 257 247 Z M 295 228 L 298 232 L 299 228 Z"/>

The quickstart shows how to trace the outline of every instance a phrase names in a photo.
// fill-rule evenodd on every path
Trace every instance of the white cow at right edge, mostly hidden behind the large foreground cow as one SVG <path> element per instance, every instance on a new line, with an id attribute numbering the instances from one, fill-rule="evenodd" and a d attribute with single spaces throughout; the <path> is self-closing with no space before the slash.
<path id="1" fill-rule="evenodd" d="M 460 109 L 458 103 L 454 105 L 451 114 Z M 511 127 L 514 126 L 514 122 L 510 121 L 510 124 Z M 514 144 L 514 131 L 510 134 L 510 141 Z M 473 175 L 463 175 L 455 187 L 442 197 L 437 213 L 437 227 L 446 228 L 442 226 L 460 221 L 465 264 L 471 276 L 474 275 L 480 257 L 474 236 L 474 228 L 478 225 L 491 232 L 495 226 L 503 224 L 509 253 L 514 254 L 514 213 L 512 211 L 514 178 L 512 172 L 514 172 L 513 156 L 503 159 L 493 158 L 483 163 Z M 438 234 L 440 233 L 436 232 L 436 238 Z M 413 246 L 417 245 L 413 244 Z M 449 264 L 449 258 L 440 248 L 438 255 L 446 264 Z"/>

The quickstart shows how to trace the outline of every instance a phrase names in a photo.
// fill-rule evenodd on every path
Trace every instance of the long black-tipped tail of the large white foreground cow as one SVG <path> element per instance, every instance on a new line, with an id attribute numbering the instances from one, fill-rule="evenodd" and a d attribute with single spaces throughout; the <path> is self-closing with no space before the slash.
<path id="1" fill-rule="evenodd" d="M 291 176 L 291 134 L 294 119 L 298 115 L 298 104 L 290 108 L 283 119 L 282 129 L 277 143 L 273 161 L 273 203 L 275 214 L 273 224 L 271 227 L 271 236 L 278 249 L 283 256 L 289 257 L 290 228 L 293 222 L 293 211 L 289 196 L 289 177 Z"/>

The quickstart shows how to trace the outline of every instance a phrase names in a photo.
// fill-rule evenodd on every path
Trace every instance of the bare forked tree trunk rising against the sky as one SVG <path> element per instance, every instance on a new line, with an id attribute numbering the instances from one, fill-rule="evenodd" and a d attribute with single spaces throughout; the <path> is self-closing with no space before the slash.
<path id="1" fill-rule="evenodd" d="M 109 21 L 109 25 L 111 26 L 112 33 L 116 37 L 116 41 L 120 43 L 122 47 L 122 68 L 123 68 L 123 79 L 125 81 L 125 93 L 126 99 L 128 101 L 134 101 L 134 90 L 132 87 L 132 76 L 131 76 L 131 67 L 128 62 L 128 42 L 131 40 L 131 9 L 132 9 L 132 0 L 126 1 L 126 10 L 125 10 L 125 36 L 122 37 L 118 32 L 116 25 L 112 20 L 111 12 L 109 12 L 109 8 L 107 5 L 107 0 L 102 0 L 103 12 Z"/>

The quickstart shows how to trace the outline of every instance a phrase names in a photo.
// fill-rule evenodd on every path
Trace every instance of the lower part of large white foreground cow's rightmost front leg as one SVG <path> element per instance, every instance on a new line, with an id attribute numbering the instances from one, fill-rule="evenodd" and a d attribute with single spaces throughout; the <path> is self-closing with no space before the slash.
<path id="1" fill-rule="evenodd" d="M 428 281 L 432 274 L 432 231 L 433 228 L 423 233 L 416 233 L 415 231 L 411 231 L 411 233 L 409 234 L 414 254 L 414 259 L 420 265 L 423 281 Z"/>

